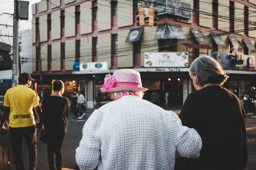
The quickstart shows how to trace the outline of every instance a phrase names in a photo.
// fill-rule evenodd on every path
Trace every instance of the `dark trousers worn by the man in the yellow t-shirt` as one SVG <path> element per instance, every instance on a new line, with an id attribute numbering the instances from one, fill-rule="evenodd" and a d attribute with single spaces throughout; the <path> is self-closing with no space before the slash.
<path id="1" fill-rule="evenodd" d="M 28 146 L 29 154 L 29 170 L 36 169 L 36 129 L 35 126 L 29 127 L 10 127 L 10 138 L 12 145 L 12 154 L 14 164 L 17 170 L 24 170 L 24 165 L 22 161 L 22 140 L 26 141 Z"/>

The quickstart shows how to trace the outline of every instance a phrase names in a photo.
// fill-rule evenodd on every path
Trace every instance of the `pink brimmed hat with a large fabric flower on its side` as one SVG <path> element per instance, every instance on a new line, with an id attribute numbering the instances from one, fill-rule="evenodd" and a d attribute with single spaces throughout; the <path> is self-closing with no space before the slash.
<path id="1" fill-rule="evenodd" d="M 146 91 L 142 87 L 140 73 L 134 69 L 118 69 L 113 76 L 107 74 L 101 92 Z"/>

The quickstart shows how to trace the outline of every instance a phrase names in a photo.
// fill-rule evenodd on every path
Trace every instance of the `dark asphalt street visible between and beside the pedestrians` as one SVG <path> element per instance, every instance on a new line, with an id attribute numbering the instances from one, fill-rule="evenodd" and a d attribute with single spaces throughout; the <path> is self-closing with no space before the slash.
<path id="1" fill-rule="evenodd" d="M 83 119 L 77 119 L 70 117 L 68 119 L 68 132 L 63 144 L 63 168 L 78 169 L 76 164 L 76 148 L 79 145 L 79 141 L 82 136 L 82 129 L 86 119 L 90 116 L 90 113 L 86 113 Z M 246 170 L 256 169 L 256 116 L 249 115 L 246 123 L 247 141 L 248 141 L 248 162 Z M 44 143 L 39 140 L 38 136 L 38 162 L 36 169 L 45 170 L 48 169 L 47 162 L 47 148 Z M 10 145 L 10 136 L 7 133 L 5 136 L 0 136 L 0 145 Z M 25 169 L 28 168 L 28 150 L 25 142 L 23 142 L 23 161 Z M 14 170 L 14 164 L 12 160 L 12 154 L 10 154 L 10 166 Z"/>

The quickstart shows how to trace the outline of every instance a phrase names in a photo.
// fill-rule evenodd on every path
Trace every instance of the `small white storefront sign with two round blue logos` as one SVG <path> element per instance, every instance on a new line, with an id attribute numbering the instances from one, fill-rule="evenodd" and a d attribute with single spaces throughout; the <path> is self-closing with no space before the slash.
<path id="1" fill-rule="evenodd" d="M 104 71 L 108 70 L 108 62 L 84 62 L 80 63 L 80 71 Z"/>

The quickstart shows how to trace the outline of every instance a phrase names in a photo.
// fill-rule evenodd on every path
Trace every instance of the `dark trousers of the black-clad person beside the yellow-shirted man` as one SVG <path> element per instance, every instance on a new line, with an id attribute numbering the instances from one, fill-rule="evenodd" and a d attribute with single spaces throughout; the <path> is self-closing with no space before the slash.
<path id="1" fill-rule="evenodd" d="M 51 138 L 47 143 L 47 156 L 50 170 L 61 170 L 62 144 L 67 134 L 67 127 L 62 129 L 51 128 Z"/>

